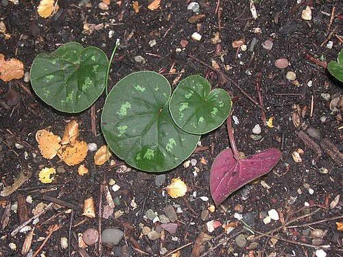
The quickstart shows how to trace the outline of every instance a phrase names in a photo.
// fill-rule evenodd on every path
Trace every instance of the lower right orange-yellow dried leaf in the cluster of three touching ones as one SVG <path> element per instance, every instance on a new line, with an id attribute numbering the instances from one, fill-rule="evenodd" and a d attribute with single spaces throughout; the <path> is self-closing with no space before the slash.
<path id="1" fill-rule="evenodd" d="M 74 147 L 67 147 L 60 156 L 68 166 L 79 164 L 86 158 L 88 151 L 87 144 L 84 141 L 75 143 Z"/>

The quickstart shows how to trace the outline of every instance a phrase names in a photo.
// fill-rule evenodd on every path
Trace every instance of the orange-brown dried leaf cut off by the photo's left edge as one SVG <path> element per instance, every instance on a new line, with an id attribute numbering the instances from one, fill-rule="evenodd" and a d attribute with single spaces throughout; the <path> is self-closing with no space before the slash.
<path id="1" fill-rule="evenodd" d="M 23 62 L 15 58 L 6 61 L 5 56 L 0 53 L 0 79 L 4 82 L 9 82 L 12 79 L 20 79 L 23 75 Z"/>

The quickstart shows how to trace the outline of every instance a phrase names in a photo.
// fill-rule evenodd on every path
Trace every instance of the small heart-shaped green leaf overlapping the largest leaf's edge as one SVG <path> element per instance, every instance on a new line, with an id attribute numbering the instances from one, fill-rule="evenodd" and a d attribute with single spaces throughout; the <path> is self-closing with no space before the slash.
<path id="1" fill-rule="evenodd" d="M 230 114 L 230 95 L 198 75 L 183 79 L 171 96 L 169 110 L 176 125 L 192 134 L 205 134 L 222 125 Z"/>

